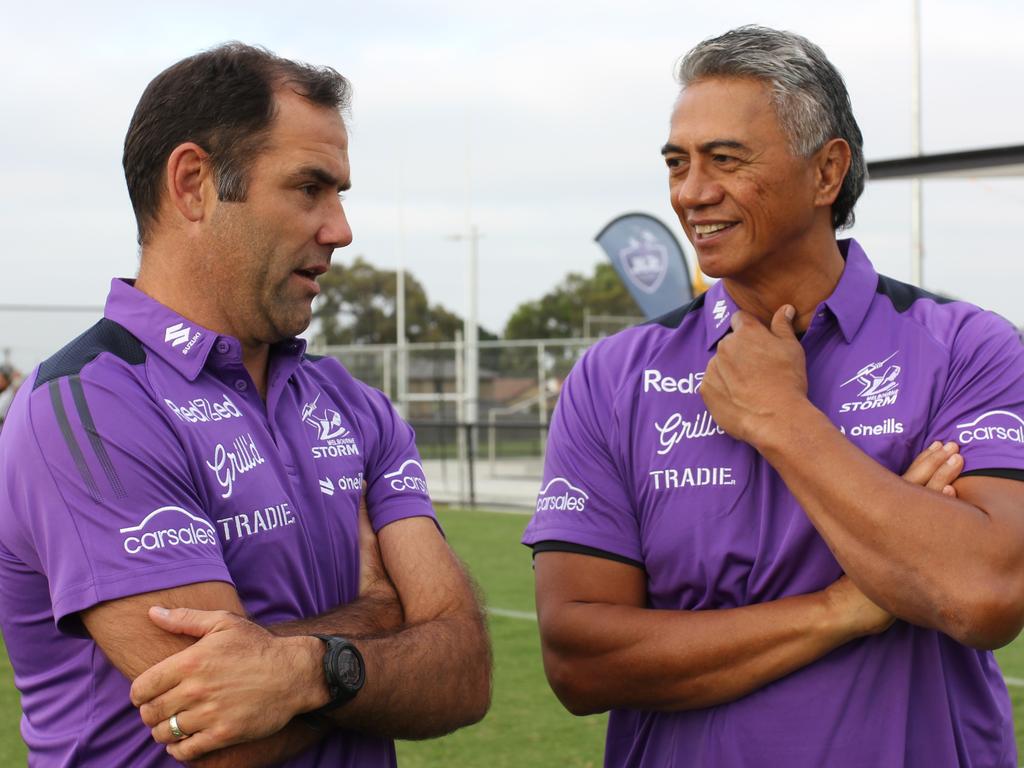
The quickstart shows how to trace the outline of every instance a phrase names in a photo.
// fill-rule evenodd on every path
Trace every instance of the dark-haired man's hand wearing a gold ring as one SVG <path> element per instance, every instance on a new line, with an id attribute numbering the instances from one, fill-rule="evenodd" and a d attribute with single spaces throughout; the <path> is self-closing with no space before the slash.
<path id="1" fill-rule="evenodd" d="M 224 610 L 155 607 L 150 618 L 167 632 L 201 638 L 131 687 L 132 703 L 175 760 L 276 733 L 296 714 L 323 703 L 315 692 L 327 698 L 316 638 L 278 637 Z M 253 709 L 252 701 L 261 707 Z M 186 738 L 171 735 L 172 715 Z"/>

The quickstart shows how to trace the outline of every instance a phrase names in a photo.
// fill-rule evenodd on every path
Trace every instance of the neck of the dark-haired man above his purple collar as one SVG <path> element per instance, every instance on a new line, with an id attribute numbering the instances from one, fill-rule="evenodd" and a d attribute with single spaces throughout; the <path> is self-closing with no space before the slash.
<path id="1" fill-rule="evenodd" d="M 135 288 L 193 323 L 237 338 L 242 344 L 242 365 L 260 396 L 266 399 L 270 345 L 245 338 L 236 331 L 202 287 L 202 260 L 183 250 L 176 248 L 171 252 L 160 241 L 143 246 Z"/>

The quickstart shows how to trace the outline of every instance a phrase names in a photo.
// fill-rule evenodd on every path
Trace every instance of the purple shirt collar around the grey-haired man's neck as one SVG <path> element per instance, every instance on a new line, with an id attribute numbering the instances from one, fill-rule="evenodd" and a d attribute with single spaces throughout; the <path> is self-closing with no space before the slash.
<path id="1" fill-rule="evenodd" d="M 818 313 L 828 313 L 839 323 L 843 338 L 849 344 L 857 335 L 867 310 L 871 305 L 879 284 L 879 276 L 871 266 L 864 249 L 851 239 L 838 241 L 840 252 L 846 259 L 846 266 L 839 279 L 836 290 L 818 305 Z M 714 348 L 730 329 L 729 321 L 738 309 L 736 302 L 725 290 L 725 282 L 719 281 L 708 289 L 703 305 L 705 335 L 708 349 Z"/>

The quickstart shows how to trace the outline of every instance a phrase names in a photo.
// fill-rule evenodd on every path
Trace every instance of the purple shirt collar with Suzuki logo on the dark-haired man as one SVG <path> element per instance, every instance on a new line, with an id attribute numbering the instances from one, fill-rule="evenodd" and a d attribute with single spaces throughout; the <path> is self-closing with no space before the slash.
<path id="1" fill-rule="evenodd" d="M 135 281 L 116 278 L 111 281 L 103 315 L 126 328 L 150 350 L 174 368 L 185 379 L 196 381 L 210 353 L 227 359 L 241 359 L 242 344 L 232 336 L 217 334 L 183 317 L 170 307 L 135 288 Z M 301 357 L 306 343 L 288 339 L 275 344 L 272 351 Z"/>

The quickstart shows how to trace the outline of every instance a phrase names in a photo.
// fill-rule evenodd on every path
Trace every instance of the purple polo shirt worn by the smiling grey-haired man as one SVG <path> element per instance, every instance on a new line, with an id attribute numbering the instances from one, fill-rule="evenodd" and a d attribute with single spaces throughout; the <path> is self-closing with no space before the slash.
<path id="1" fill-rule="evenodd" d="M 840 246 L 843 275 L 801 342 L 811 401 L 893 472 L 933 440 L 955 440 L 964 474 L 1024 479 L 1015 329 L 880 276 L 854 241 Z M 763 603 L 840 578 L 778 474 L 700 397 L 734 311 L 718 283 L 583 356 L 555 411 L 525 544 L 635 563 L 660 609 Z M 605 764 L 1001 768 L 1017 755 L 992 654 L 897 622 L 729 703 L 612 711 Z"/>

